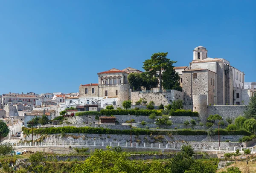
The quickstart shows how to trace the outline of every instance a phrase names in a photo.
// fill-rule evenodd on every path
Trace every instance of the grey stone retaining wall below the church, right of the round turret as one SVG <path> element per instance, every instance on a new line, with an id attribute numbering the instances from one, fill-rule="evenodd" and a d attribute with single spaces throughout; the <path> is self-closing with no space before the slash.
<path id="1" fill-rule="evenodd" d="M 227 117 L 235 119 L 239 115 L 244 115 L 245 109 L 246 106 L 244 105 L 208 106 L 207 115 L 218 114 L 222 116 L 224 119 L 226 119 Z"/>

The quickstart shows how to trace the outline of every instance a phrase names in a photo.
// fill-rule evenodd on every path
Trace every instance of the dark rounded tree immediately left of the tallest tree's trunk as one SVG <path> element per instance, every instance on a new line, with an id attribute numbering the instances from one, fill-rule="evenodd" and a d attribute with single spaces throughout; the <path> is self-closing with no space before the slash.
<path id="1" fill-rule="evenodd" d="M 158 78 L 152 75 L 149 72 L 144 72 L 141 74 L 142 77 L 142 86 L 146 88 L 146 90 L 150 90 L 158 85 Z"/>

